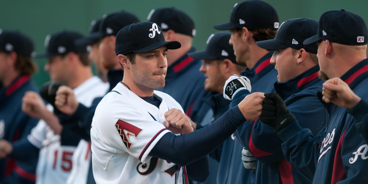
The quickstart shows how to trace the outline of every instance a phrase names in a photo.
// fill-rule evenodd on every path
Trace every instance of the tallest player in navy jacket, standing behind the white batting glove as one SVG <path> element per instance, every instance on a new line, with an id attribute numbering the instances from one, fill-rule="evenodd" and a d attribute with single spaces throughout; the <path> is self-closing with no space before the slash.
<path id="1" fill-rule="evenodd" d="M 230 22 L 213 26 L 219 30 L 230 30 L 231 38 L 229 44 L 233 46 L 234 55 L 237 63 L 245 64 L 247 69 L 241 72 L 241 75 L 247 77 L 252 84 L 252 92 L 274 92 L 273 84 L 277 81 L 277 70 L 270 64 L 270 59 L 274 51 L 263 49 L 256 45 L 257 41 L 275 38 L 277 28 L 279 28 L 279 17 L 274 7 L 262 0 L 247 0 L 234 5 L 230 15 Z M 234 79 L 233 76 L 232 79 Z M 239 77 L 237 80 L 240 79 Z M 225 84 L 231 85 L 228 80 Z M 231 89 L 231 86 L 229 86 Z M 238 88 L 239 89 L 239 88 Z M 236 89 L 233 89 L 235 92 Z M 230 92 L 230 91 L 229 91 Z M 228 94 L 228 100 L 235 97 L 235 93 Z M 240 97 L 243 93 L 237 93 Z M 245 93 L 244 95 L 247 95 Z M 243 99 L 236 98 L 238 100 Z M 233 102 L 237 104 L 237 100 Z M 243 126 L 251 126 L 245 123 Z M 236 137 L 236 136 L 235 136 Z M 234 138 L 235 138 L 234 137 Z M 243 162 L 240 161 L 244 145 L 241 145 L 240 137 L 236 137 L 233 152 L 227 157 L 228 162 L 224 162 L 221 173 L 218 176 L 217 183 L 241 183 L 248 181 L 248 178 L 241 173 Z M 265 177 L 265 176 L 262 176 Z M 270 180 L 273 181 L 273 180 Z"/>

